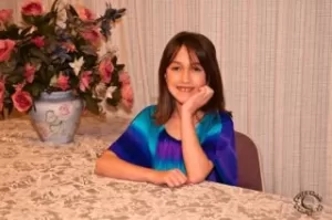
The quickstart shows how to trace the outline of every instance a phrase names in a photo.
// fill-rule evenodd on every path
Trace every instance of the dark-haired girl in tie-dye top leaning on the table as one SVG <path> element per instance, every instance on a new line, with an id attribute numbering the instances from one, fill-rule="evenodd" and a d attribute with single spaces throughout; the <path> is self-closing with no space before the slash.
<path id="1" fill-rule="evenodd" d="M 180 32 L 168 42 L 157 105 L 134 118 L 97 159 L 95 171 L 169 187 L 204 180 L 237 185 L 235 130 L 209 39 Z"/>

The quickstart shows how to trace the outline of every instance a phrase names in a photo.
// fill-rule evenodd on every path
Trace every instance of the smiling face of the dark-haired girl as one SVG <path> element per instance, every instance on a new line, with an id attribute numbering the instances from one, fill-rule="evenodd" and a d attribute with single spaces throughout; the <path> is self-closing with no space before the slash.
<path id="1" fill-rule="evenodd" d="M 180 48 L 168 65 L 165 78 L 169 93 L 178 104 L 184 104 L 206 85 L 206 73 L 203 66 L 195 53 L 189 55 L 186 46 Z"/>

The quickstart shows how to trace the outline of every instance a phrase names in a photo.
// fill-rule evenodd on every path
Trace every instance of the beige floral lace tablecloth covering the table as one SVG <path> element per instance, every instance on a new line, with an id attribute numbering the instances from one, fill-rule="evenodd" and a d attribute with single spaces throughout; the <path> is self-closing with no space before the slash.
<path id="1" fill-rule="evenodd" d="M 0 122 L 0 219 L 332 219 L 307 217 L 289 198 L 204 182 L 177 189 L 94 175 L 96 154 L 126 127 L 84 118 L 75 143 L 41 143 L 29 121 Z"/>

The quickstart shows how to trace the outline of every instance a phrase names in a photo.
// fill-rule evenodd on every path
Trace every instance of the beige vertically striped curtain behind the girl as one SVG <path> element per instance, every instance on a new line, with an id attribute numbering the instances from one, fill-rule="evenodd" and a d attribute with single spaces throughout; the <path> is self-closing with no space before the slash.
<path id="1" fill-rule="evenodd" d="M 80 2 L 102 13 L 106 1 Z M 217 48 L 236 129 L 260 150 L 266 190 L 314 190 L 332 203 L 332 1 L 111 2 L 127 9 L 113 41 L 134 82 L 135 113 L 156 102 L 167 41 L 178 31 L 201 32 Z"/>

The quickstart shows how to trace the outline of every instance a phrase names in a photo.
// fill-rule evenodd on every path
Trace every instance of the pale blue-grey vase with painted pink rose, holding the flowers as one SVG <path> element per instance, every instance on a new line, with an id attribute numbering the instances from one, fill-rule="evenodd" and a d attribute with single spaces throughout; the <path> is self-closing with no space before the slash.
<path id="1" fill-rule="evenodd" d="M 43 92 L 29 114 L 42 142 L 66 144 L 74 140 L 82 109 L 82 99 L 72 91 Z"/>

